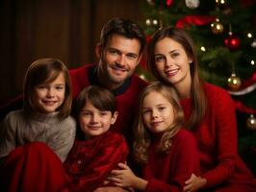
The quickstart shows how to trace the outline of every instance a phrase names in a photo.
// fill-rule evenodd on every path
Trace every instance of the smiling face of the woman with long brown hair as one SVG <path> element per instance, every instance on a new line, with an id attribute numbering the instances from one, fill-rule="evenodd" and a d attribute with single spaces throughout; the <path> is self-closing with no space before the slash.
<path id="1" fill-rule="evenodd" d="M 170 37 L 159 40 L 154 49 L 156 69 L 169 84 L 191 84 L 190 59 L 183 46 Z"/>

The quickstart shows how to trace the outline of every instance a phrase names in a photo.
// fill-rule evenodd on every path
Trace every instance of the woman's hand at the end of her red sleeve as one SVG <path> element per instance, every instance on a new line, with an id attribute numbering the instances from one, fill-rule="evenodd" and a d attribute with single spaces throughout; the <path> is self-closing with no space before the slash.
<path id="1" fill-rule="evenodd" d="M 201 177 L 197 177 L 192 174 L 192 177 L 189 180 L 185 181 L 184 192 L 197 191 L 206 184 L 207 180 Z"/>

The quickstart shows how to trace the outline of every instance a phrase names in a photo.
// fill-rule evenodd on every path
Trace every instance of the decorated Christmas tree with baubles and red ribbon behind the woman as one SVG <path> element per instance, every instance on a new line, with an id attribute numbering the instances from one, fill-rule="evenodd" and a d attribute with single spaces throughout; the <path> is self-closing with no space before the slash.
<path id="1" fill-rule="evenodd" d="M 201 78 L 234 100 L 239 153 L 256 174 L 256 0 L 146 0 L 141 7 L 148 38 L 165 26 L 192 36 Z M 152 78 L 143 64 L 139 73 Z"/>

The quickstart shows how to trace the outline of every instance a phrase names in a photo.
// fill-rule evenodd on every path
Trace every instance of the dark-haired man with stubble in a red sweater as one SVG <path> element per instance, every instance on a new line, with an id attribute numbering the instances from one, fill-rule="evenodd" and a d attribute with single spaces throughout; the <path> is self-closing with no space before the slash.
<path id="1" fill-rule="evenodd" d="M 137 24 L 113 18 L 103 27 L 96 45 L 98 64 L 70 70 L 74 98 L 90 84 L 104 86 L 115 93 L 118 118 L 114 130 L 127 139 L 132 132 L 137 98 L 146 85 L 134 74 L 144 45 L 145 37 Z"/>

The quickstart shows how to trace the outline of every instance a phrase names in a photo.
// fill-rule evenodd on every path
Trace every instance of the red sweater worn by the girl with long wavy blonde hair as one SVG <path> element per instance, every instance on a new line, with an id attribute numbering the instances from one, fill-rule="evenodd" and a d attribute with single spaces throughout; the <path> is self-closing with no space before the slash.
<path id="1" fill-rule="evenodd" d="M 150 146 L 149 161 L 142 174 L 148 180 L 147 192 L 183 191 L 185 180 L 198 175 L 199 155 L 191 132 L 181 130 L 173 137 L 168 154 L 156 153 L 157 143 Z"/>

